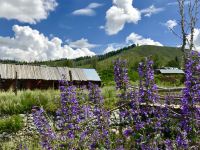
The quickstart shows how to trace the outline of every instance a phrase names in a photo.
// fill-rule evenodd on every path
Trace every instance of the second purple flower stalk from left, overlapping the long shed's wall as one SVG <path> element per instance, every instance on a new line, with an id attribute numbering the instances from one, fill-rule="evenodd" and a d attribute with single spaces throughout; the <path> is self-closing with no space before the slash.
<path id="1" fill-rule="evenodd" d="M 75 137 L 80 132 L 79 123 L 82 108 L 77 100 L 77 88 L 67 82 L 60 82 L 61 108 L 57 110 L 57 128 L 62 131 L 60 140 L 69 147 L 74 147 Z M 61 142 L 61 143 L 62 143 Z"/>

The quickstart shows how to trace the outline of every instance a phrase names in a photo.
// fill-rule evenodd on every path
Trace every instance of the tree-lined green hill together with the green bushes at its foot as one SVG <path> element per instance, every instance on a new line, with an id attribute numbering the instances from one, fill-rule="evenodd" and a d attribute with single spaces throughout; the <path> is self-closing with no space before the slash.
<path id="1" fill-rule="evenodd" d="M 151 56 L 155 63 L 155 68 L 162 66 L 180 67 L 182 52 L 174 47 L 159 46 L 138 46 L 135 45 L 123 48 L 119 51 L 110 52 L 105 55 L 95 57 L 83 57 L 74 60 L 55 60 L 46 62 L 36 62 L 36 64 L 50 66 L 69 66 L 80 68 L 95 68 L 101 76 L 104 84 L 113 82 L 113 61 L 117 58 L 126 59 L 128 62 L 129 76 L 132 81 L 138 80 L 138 63 L 145 57 Z"/>

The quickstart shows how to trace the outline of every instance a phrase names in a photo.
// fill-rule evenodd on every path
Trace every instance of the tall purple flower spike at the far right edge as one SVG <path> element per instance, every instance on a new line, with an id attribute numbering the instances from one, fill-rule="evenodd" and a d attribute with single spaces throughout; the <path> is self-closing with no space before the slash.
<path id="1" fill-rule="evenodd" d="M 199 114 L 197 105 L 200 102 L 200 53 L 190 52 L 185 63 L 185 89 L 181 99 L 180 127 L 185 138 L 177 137 L 178 145 L 186 147 L 189 135 L 198 136 L 196 130 L 199 130 Z M 182 136 L 183 137 L 183 136 Z M 184 141 L 185 140 L 185 141 Z M 195 143 L 195 141 L 192 141 Z"/>

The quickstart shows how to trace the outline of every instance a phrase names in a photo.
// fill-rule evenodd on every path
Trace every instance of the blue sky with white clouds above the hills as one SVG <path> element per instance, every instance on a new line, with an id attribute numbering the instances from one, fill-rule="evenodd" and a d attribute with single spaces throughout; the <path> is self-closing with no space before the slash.
<path id="1" fill-rule="evenodd" d="M 131 44 L 181 45 L 176 0 L 0 0 L 0 59 L 94 56 Z M 187 1 L 186 1 L 187 5 Z M 194 44 L 200 50 L 200 25 Z"/>

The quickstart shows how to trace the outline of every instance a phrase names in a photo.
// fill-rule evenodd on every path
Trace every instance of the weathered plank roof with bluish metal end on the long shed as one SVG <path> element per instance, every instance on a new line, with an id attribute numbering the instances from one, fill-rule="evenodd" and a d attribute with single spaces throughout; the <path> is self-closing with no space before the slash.
<path id="1" fill-rule="evenodd" d="M 69 81 L 69 71 L 73 81 L 101 81 L 95 69 L 0 64 L 2 79 L 15 79 L 17 72 L 18 79 L 62 80 L 65 77 Z"/>

